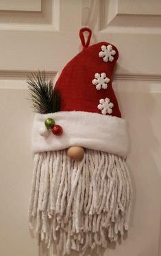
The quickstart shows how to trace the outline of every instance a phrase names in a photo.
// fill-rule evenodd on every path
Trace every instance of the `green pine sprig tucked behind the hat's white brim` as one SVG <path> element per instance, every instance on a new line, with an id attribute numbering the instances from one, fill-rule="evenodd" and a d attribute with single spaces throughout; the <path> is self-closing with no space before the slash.
<path id="1" fill-rule="evenodd" d="M 27 84 L 36 113 L 54 113 L 60 110 L 60 94 L 53 89 L 53 81 L 47 80 L 45 71 L 32 73 L 27 78 Z"/>

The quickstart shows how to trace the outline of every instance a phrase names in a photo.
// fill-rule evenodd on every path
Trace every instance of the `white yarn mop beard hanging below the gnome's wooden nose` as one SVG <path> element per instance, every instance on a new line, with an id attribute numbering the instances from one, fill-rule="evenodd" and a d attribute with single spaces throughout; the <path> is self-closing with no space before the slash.
<path id="1" fill-rule="evenodd" d="M 63 254 L 107 247 L 128 229 L 132 185 L 125 161 L 88 150 L 82 161 L 66 150 L 34 155 L 29 223 Z"/>

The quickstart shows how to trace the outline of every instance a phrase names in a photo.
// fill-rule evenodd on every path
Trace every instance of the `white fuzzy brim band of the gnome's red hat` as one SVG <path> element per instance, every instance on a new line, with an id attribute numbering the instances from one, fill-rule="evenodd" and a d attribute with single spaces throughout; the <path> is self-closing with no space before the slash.
<path id="1" fill-rule="evenodd" d="M 48 117 L 62 126 L 61 136 L 55 136 L 52 132 L 47 138 L 40 136 L 38 131 Z M 83 111 L 36 114 L 32 142 L 35 153 L 82 146 L 125 157 L 128 146 L 126 121 L 119 117 Z"/>

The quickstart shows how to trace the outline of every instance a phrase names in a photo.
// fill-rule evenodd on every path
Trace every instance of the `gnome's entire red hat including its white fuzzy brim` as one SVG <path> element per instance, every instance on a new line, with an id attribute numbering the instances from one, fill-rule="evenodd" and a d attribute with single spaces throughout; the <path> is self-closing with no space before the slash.
<path id="1" fill-rule="evenodd" d="M 85 31 L 89 33 L 86 43 Z M 55 84 L 61 98 L 60 111 L 36 114 L 34 152 L 82 146 L 123 157 L 127 154 L 126 122 L 121 118 L 112 89 L 112 73 L 119 53 L 106 42 L 89 46 L 91 34 L 88 27 L 80 30 L 83 49 L 64 67 Z M 40 137 L 37 131 L 47 118 L 62 126 L 61 136 Z"/>

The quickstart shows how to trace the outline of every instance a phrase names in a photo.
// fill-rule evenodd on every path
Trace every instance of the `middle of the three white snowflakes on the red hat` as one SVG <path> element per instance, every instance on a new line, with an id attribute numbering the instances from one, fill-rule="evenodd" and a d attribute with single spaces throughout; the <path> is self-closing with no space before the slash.
<path id="1" fill-rule="evenodd" d="M 107 78 L 106 73 L 95 73 L 95 79 L 92 80 L 92 84 L 96 86 L 97 90 L 101 90 L 101 88 L 107 89 L 109 81 L 110 79 Z"/>

